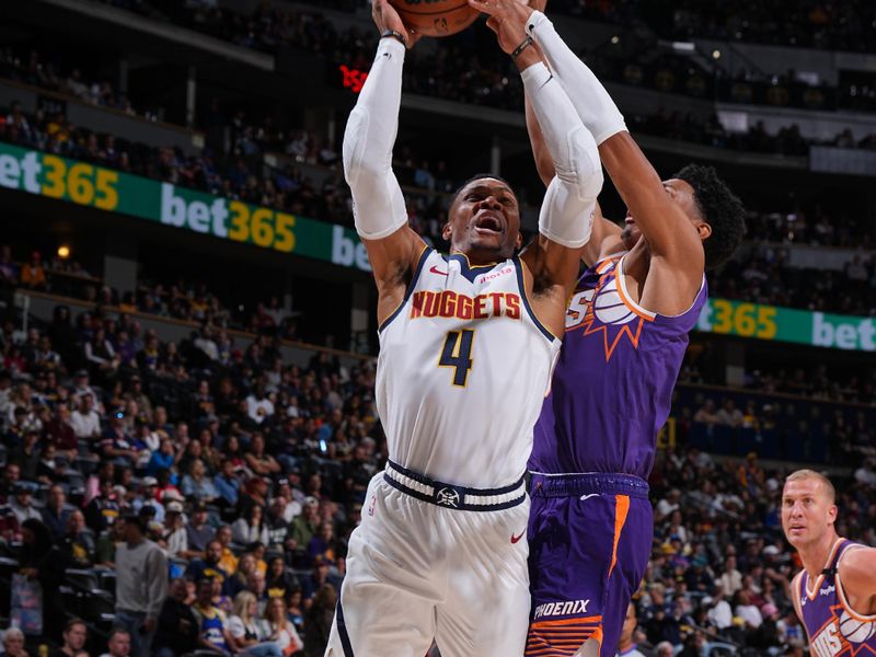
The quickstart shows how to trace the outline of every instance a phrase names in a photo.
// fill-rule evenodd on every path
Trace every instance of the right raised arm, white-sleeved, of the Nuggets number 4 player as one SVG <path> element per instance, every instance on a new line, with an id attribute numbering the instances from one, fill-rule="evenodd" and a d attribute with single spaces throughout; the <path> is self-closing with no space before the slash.
<path id="1" fill-rule="evenodd" d="M 489 14 L 487 26 L 520 70 L 527 96 L 541 125 L 554 175 L 539 215 L 539 239 L 521 255 L 533 275 L 535 295 L 557 287 L 566 293 L 578 273 L 581 250 L 590 238 L 602 165 L 596 141 L 544 62 L 532 47 L 526 22 L 532 9 L 517 0 L 469 0 Z M 565 299 L 564 299 L 565 300 Z"/>

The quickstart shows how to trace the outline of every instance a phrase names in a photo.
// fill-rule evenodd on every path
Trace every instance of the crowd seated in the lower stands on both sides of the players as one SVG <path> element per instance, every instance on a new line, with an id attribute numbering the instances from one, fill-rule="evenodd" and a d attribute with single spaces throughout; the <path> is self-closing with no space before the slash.
<path id="1" fill-rule="evenodd" d="M 0 549 L 61 591 L 43 602 L 46 638 L 94 650 L 103 633 L 111 655 L 137 648 L 118 565 L 148 540 L 169 580 L 154 654 L 322 654 L 346 540 L 385 458 L 371 362 L 314 354 L 288 365 L 276 338 L 226 346 L 209 324 L 193 341 L 162 343 L 127 315 L 73 320 L 65 307 L 26 335 L 5 322 L 0 348 Z M 799 654 L 805 644 L 787 588 L 799 564 L 779 523 L 783 473 L 756 454 L 717 462 L 690 431 L 765 430 L 769 414 L 705 400 L 680 414 L 687 447 L 669 449 L 650 482 L 654 554 L 631 638 L 646 654 L 669 645 L 699 655 L 704 643 Z M 851 440 L 873 446 L 868 428 L 852 429 Z M 876 472 L 861 463 L 839 487 L 840 532 L 876 544 Z M 82 620 L 66 623 L 71 614 Z M 4 636 L 13 650 L 20 639 Z"/>

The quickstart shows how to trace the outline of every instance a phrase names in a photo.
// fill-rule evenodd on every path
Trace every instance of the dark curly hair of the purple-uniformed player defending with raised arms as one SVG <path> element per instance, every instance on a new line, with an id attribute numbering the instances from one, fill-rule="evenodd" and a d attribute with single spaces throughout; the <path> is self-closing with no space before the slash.
<path id="1" fill-rule="evenodd" d="M 742 201 L 718 177 L 714 166 L 688 164 L 675 176 L 693 187 L 693 198 L 712 234 L 703 242 L 705 268 L 723 265 L 739 247 L 746 234 Z"/>

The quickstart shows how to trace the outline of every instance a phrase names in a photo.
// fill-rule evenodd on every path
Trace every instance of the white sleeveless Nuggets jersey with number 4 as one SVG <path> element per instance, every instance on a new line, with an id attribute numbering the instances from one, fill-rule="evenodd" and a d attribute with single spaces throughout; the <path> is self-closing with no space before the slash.
<path id="1" fill-rule="evenodd" d="M 424 250 L 380 327 L 377 407 L 395 463 L 479 488 L 526 470 L 560 341 L 532 313 L 522 266 Z"/>

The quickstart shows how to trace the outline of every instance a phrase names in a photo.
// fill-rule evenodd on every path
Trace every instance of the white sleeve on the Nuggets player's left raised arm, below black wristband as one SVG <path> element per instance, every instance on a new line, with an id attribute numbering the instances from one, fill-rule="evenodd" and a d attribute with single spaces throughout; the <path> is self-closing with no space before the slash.
<path id="1" fill-rule="evenodd" d="M 353 192 L 356 230 L 367 240 L 391 235 L 407 222 L 402 188 L 392 172 L 403 64 L 404 46 L 381 38 L 344 132 L 344 177 Z"/>

